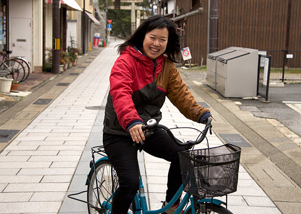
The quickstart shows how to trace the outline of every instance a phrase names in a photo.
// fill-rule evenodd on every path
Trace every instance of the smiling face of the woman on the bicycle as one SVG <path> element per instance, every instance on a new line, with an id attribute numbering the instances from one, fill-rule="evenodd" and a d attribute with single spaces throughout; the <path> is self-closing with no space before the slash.
<path id="1" fill-rule="evenodd" d="M 168 40 L 167 28 L 155 28 L 148 32 L 143 40 L 143 52 L 151 59 L 156 59 L 166 50 Z"/>

